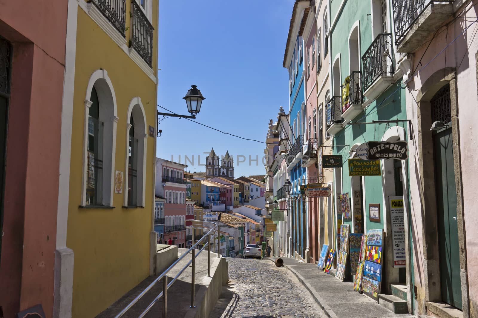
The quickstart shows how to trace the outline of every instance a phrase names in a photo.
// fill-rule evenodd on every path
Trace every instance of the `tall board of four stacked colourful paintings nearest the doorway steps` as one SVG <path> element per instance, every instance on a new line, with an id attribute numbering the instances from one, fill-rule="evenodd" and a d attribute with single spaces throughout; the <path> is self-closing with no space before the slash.
<path id="1" fill-rule="evenodd" d="M 365 249 L 362 292 L 379 300 L 382 276 L 382 249 L 383 230 L 369 230 L 367 232 L 367 247 Z"/>

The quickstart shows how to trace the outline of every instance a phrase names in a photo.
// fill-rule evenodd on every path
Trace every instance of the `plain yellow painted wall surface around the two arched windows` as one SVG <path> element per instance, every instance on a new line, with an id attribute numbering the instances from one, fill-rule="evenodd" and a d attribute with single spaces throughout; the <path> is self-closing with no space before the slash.
<path id="1" fill-rule="evenodd" d="M 153 66 L 157 69 L 157 12 L 153 1 Z M 130 0 L 126 1 L 126 25 L 130 25 Z M 156 84 L 131 58 L 78 7 L 76 70 L 72 123 L 67 247 L 74 252 L 72 317 L 95 317 L 132 287 L 149 276 L 154 142 L 147 138 L 144 209 L 123 209 L 123 195 L 113 194 L 115 209 L 79 209 L 82 189 L 82 157 L 85 106 L 90 75 L 100 68 L 108 72 L 117 102 L 114 170 L 125 170 L 127 110 L 140 96 L 146 125 L 156 127 Z M 130 38 L 126 31 L 126 40 Z M 154 71 L 156 74 L 156 71 Z M 101 104 L 101 101 L 100 101 Z M 127 173 L 127 172 L 124 172 Z"/>

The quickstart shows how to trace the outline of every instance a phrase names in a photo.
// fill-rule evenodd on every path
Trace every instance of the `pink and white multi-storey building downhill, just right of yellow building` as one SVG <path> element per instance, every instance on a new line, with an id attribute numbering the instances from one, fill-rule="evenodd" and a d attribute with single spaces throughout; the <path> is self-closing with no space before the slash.
<path id="1" fill-rule="evenodd" d="M 181 248 L 186 247 L 185 168 L 186 165 L 156 158 L 156 195 L 165 199 L 163 242 L 167 243 L 171 238 L 173 244 Z"/>

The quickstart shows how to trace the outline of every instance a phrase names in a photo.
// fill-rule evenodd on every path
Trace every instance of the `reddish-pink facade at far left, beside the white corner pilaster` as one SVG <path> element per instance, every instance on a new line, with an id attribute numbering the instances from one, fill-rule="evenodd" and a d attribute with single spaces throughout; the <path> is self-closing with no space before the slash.
<path id="1" fill-rule="evenodd" d="M 8 114 L 0 157 L 9 167 L 0 202 L 4 317 L 37 304 L 53 314 L 67 3 L 1 4 L 0 54 L 9 54 L 0 56 L 0 69 L 10 73 L 0 74 L 1 112 Z"/>

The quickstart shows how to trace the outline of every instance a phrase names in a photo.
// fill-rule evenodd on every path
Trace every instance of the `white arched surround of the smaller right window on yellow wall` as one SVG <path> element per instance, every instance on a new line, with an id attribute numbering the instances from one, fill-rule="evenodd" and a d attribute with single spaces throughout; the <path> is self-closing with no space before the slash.
<path id="1" fill-rule="evenodd" d="M 138 144 L 141 142 L 141 137 L 143 138 L 143 153 L 142 153 L 142 162 L 141 162 L 141 166 L 140 166 L 140 162 L 138 162 L 138 167 L 137 167 L 137 171 L 139 173 L 141 173 L 141 170 L 142 170 L 142 173 L 141 173 L 141 179 L 142 180 L 139 180 L 138 177 L 139 177 L 139 173 L 138 173 L 138 177 L 136 180 L 138 181 L 141 181 L 142 185 L 141 187 L 137 187 L 137 191 L 140 191 L 141 190 L 141 202 L 138 202 L 136 203 L 136 205 L 139 205 L 139 206 L 144 206 L 145 205 L 145 195 L 146 195 L 146 150 L 147 150 L 147 140 L 148 140 L 148 134 L 147 134 L 147 131 L 148 131 L 148 127 L 147 127 L 147 124 L 146 124 L 146 113 L 144 112 L 144 107 L 143 107 L 143 104 L 141 103 L 141 97 L 139 96 L 136 96 L 136 97 L 133 97 L 130 101 L 130 105 L 128 106 L 128 111 L 127 111 L 127 115 L 126 115 L 126 148 L 125 148 L 125 167 L 124 167 L 124 184 L 127 186 L 128 185 L 128 179 L 129 179 L 129 176 L 128 176 L 128 157 L 129 157 L 129 151 L 128 151 L 128 148 L 130 146 L 130 128 L 131 128 L 131 123 L 130 123 L 130 117 L 131 117 L 131 114 L 133 112 L 133 108 L 134 106 L 139 106 L 140 109 L 141 109 L 141 114 L 142 114 L 142 119 L 143 119 L 143 122 L 144 122 L 144 127 L 143 127 L 143 135 L 142 136 L 139 136 L 138 137 Z M 141 133 L 141 132 L 140 132 Z M 138 193 L 137 193 L 138 195 Z M 124 193 L 123 193 L 123 205 L 124 206 L 128 206 L 128 190 L 125 190 Z"/>

